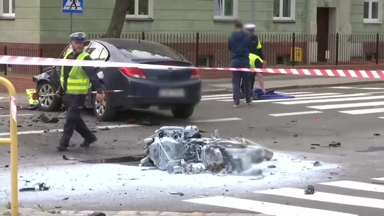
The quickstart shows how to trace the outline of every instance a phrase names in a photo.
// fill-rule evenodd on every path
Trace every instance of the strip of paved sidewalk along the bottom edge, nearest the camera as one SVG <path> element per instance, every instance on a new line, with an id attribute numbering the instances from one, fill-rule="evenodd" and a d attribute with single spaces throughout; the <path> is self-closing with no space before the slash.
<path id="1" fill-rule="evenodd" d="M 243 213 L 201 213 L 201 212 L 160 212 L 160 211 L 60 211 L 56 209 L 54 212 L 42 212 L 31 208 L 19 208 L 19 216 L 89 216 L 96 212 L 102 212 L 106 216 L 269 216 L 266 214 L 243 214 Z M 0 206 L 0 216 L 11 216 L 10 209 Z"/>

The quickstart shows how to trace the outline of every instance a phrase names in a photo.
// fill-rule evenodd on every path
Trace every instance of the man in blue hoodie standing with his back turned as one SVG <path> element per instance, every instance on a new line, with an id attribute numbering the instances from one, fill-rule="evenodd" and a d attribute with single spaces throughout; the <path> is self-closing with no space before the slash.
<path id="1" fill-rule="evenodd" d="M 232 33 L 228 40 L 228 47 L 231 52 L 231 68 L 250 68 L 249 53 L 252 48 L 251 38 L 243 30 L 243 24 L 235 23 L 235 32 Z M 233 88 L 233 107 L 240 105 L 240 82 L 245 86 L 245 101 L 247 104 L 252 102 L 251 86 L 249 71 L 232 71 L 232 88 Z"/>

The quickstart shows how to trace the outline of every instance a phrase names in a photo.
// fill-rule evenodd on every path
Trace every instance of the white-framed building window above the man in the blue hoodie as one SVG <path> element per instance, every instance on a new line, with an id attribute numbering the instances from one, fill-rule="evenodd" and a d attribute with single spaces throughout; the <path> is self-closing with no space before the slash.
<path id="1" fill-rule="evenodd" d="M 238 0 L 214 0 L 214 19 L 231 20 L 237 18 Z"/>

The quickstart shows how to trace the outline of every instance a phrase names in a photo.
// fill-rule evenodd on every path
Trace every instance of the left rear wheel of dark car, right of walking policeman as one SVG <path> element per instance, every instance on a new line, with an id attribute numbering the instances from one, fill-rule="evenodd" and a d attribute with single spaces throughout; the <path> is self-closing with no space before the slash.
<path id="1" fill-rule="evenodd" d="M 106 90 L 104 85 L 101 85 L 103 90 Z M 116 116 L 116 109 L 111 105 L 109 94 L 105 94 L 103 103 L 96 100 L 96 94 L 92 94 L 93 112 L 99 121 L 111 121 Z"/>

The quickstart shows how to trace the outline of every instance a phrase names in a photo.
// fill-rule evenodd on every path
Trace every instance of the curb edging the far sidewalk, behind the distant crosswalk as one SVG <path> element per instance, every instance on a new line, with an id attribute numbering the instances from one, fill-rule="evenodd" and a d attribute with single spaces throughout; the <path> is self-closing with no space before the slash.
<path id="1" fill-rule="evenodd" d="M 334 84 L 318 84 L 318 85 L 292 85 L 292 86 L 281 86 L 276 88 L 266 88 L 266 90 L 288 90 L 288 89 L 300 89 L 300 88 L 321 88 L 321 87 L 332 87 L 332 86 L 349 86 L 349 85 L 372 85 L 384 83 L 384 80 L 375 80 L 375 81 L 359 81 L 351 83 L 334 83 Z M 230 89 L 212 89 L 212 90 L 202 90 L 202 95 L 215 95 L 215 94 L 228 94 L 232 93 Z"/>

